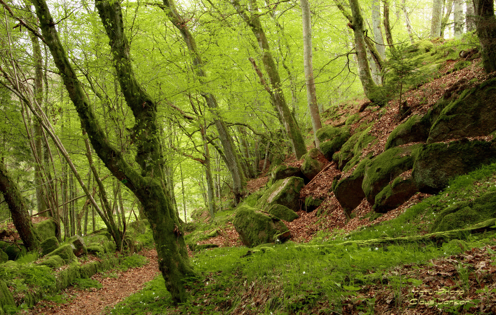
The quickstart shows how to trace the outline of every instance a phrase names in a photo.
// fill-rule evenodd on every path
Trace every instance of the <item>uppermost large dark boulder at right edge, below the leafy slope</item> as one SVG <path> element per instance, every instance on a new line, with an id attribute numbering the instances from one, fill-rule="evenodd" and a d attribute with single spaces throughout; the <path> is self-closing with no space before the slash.
<path id="1" fill-rule="evenodd" d="M 464 90 L 437 117 L 427 143 L 491 134 L 496 126 L 495 93 L 496 78 Z"/>

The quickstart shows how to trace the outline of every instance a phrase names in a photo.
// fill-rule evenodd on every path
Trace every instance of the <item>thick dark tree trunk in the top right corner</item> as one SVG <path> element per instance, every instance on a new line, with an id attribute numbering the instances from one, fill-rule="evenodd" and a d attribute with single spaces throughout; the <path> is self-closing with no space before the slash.
<path id="1" fill-rule="evenodd" d="M 496 71 L 496 17 L 494 0 L 474 0 L 477 36 L 486 73 Z"/>

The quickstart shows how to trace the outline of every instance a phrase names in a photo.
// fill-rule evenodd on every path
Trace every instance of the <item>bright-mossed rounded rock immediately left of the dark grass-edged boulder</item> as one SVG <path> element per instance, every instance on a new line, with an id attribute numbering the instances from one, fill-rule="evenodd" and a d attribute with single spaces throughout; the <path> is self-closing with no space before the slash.
<path id="1" fill-rule="evenodd" d="M 391 179 L 412 169 L 415 157 L 421 149 L 422 144 L 394 147 L 367 162 L 362 189 L 370 204 L 375 203 L 375 196 Z"/>

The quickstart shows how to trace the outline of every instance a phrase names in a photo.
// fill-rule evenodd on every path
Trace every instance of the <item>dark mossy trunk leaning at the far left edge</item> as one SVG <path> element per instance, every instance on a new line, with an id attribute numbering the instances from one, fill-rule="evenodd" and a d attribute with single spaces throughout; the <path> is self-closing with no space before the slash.
<path id="1" fill-rule="evenodd" d="M 0 191 L 8 205 L 8 209 L 12 215 L 12 221 L 24 246 L 30 251 L 36 250 L 40 246 L 40 242 L 34 233 L 33 223 L 31 222 L 31 217 L 29 216 L 29 211 L 24 203 L 21 191 L 17 184 L 10 178 L 5 164 L 3 164 L 3 157 L 0 158 Z"/>

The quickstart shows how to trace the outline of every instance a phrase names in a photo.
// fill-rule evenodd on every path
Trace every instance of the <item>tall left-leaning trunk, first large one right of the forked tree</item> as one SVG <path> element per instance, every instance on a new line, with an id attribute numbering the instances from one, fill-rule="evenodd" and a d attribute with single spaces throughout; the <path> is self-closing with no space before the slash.
<path id="1" fill-rule="evenodd" d="M 172 0 L 163 0 L 163 2 L 164 6 L 162 6 L 162 8 L 164 9 L 164 11 L 166 11 L 169 20 L 179 30 L 186 43 L 200 83 L 206 84 L 206 74 L 203 70 L 204 62 L 197 49 L 196 41 L 187 27 L 187 22 L 179 14 L 176 5 Z M 203 96 L 203 98 L 205 99 L 208 108 L 212 113 L 212 118 L 214 121 L 214 125 L 217 128 L 219 140 L 222 143 L 222 147 L 224 148 L 226 166 L 231 173 L 231 177 L 233 178 L 234 201 L 235 204 L 238 204 L 241 200 L 241 197 L 246 194 L 247 182 L 241 168 L 240 158 L 236 152 L 233 137 L 231 136 L 229 128 L 226 126 L 225 122 L 219 115 L 219 105 L 217 103 L 217 98 L 215 97 L 215 95 L 208 91 L 201 91 L 200 93 L 201 96 Z"/>

